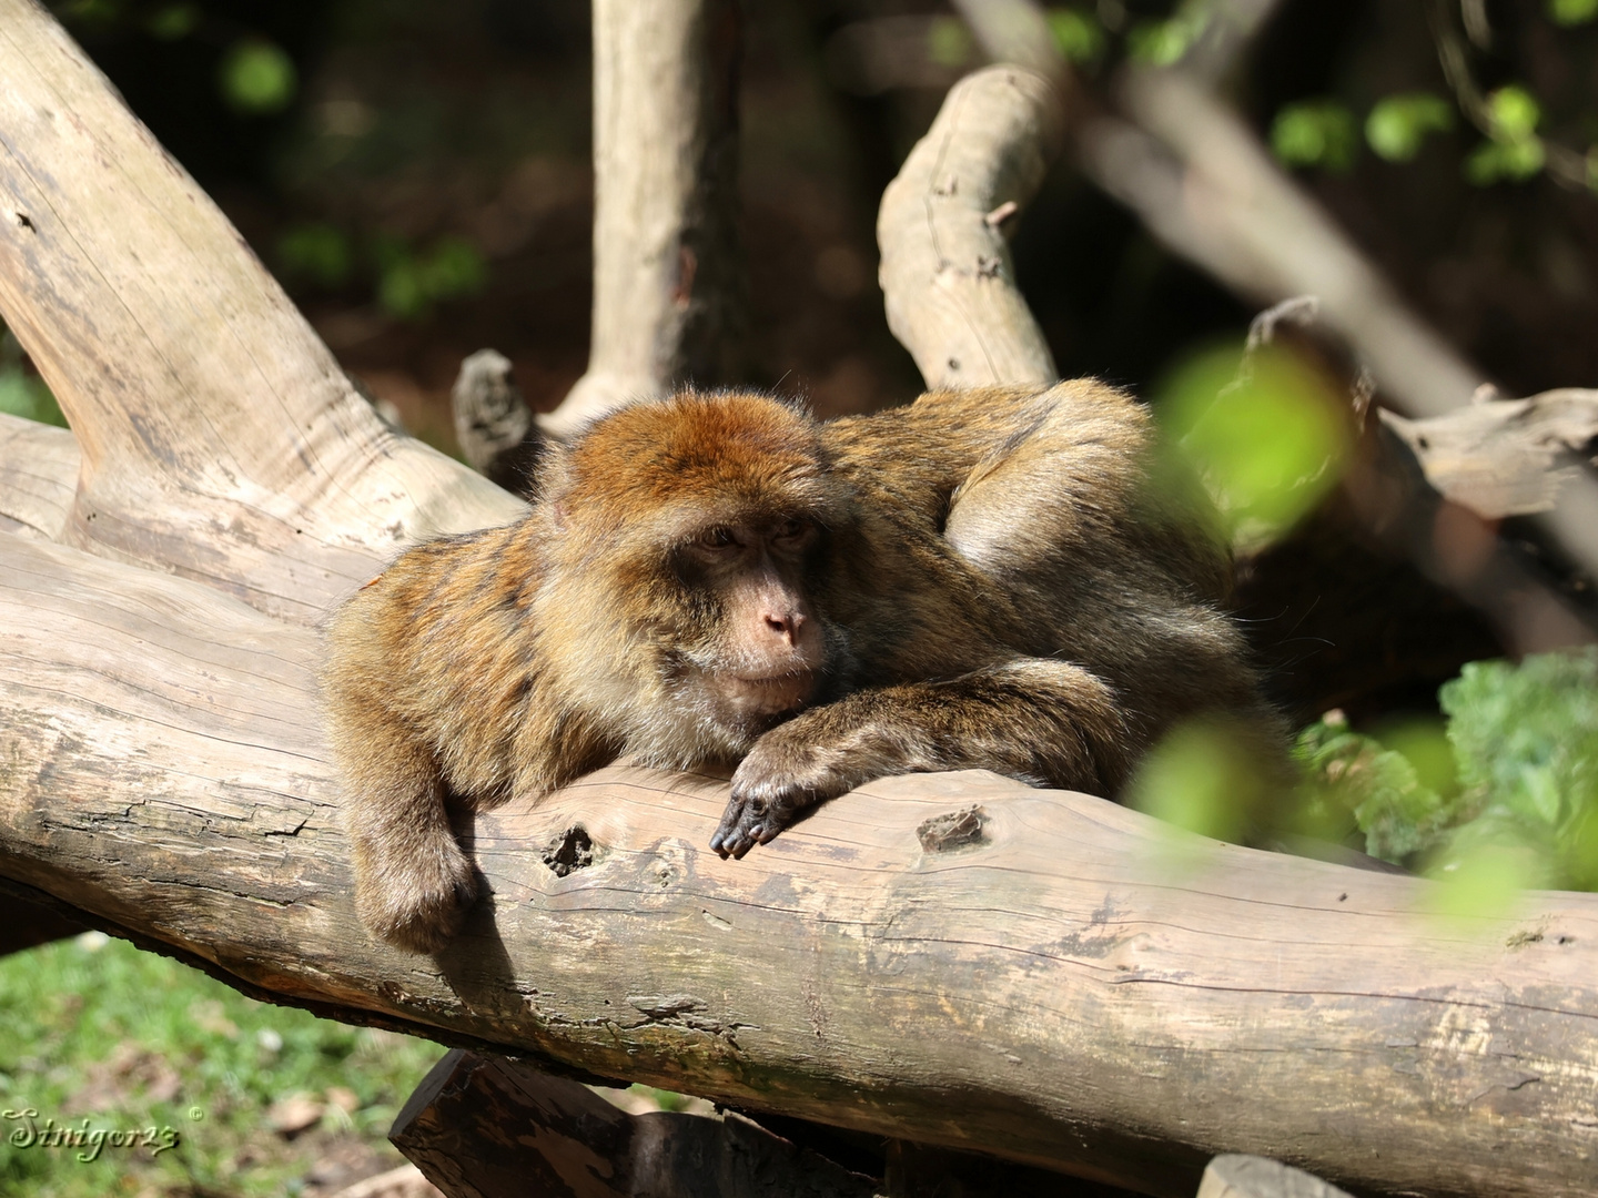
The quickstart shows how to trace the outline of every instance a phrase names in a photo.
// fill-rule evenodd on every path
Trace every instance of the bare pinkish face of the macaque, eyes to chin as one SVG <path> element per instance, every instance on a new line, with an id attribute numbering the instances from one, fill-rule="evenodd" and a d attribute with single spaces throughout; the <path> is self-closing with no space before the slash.
<path id="1" fill-rule="evenodd" d="M 809 586 L 820 535 L 807 518 L 773 514 L 710 524 L 674 548 L 674 688 L 740 741 L 820 690 L 828 629 Z"/>

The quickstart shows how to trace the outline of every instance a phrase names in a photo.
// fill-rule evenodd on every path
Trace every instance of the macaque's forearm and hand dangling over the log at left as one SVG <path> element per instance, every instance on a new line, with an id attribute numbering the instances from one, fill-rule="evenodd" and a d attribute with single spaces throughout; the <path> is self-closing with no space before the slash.
<path id="1" fill-rule="evenodd" d="M 407 952 L 438 952 L 476 901 L 476 871 L 449 826 L 428 746 L 387 712 L 363 706 L 353 722 L 358 740 L 339 736 L 334 722 L 355 906 L 379 939 Z"/>

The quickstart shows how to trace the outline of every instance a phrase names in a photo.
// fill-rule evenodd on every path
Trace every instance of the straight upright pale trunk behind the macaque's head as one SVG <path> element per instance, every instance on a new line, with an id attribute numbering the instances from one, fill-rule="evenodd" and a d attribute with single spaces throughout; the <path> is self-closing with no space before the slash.
<path id="1" fill-rule="evenodd" d="M 741 323 L 732 0 L 594 0 L 588 371 L 545 431 L 687 380 L 730 382 Z"/>

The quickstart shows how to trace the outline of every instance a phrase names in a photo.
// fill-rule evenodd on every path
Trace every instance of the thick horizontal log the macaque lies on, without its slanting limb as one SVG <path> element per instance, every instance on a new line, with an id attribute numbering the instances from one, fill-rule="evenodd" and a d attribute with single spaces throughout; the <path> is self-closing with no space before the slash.
<path id="1" fill-rule="evenodd" d="M 1387 1193 L 1598 1168 L 1598 896 L 1438 923 L 1425 882 L 989 775 L 722 861 L 722 781 L 610 768 L 463 829 L 492 899 L 407 957 L 355 918 L 308 631 L 16 537 L 0 613 L 0 872 L 240 984 L 1157 1195 L 1222 1150 Z"/>

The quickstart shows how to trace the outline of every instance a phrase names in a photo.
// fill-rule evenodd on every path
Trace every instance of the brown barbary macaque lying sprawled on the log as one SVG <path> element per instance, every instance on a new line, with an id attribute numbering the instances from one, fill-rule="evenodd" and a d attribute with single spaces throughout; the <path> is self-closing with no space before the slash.
<path id="1" fill-rule="evenodd" d="M 682 393 L 547 454 L 515 524 L 419 545 L 329 628 L 361 918 L 435 952 L 476 898 L 447 805 L 614 759 L 737 765 L 743 856 L 873 778 L 988 768 L 1114 795 L 1173 722 L 1270 740 L 1226 551 L 1091 380 L 821 423 Z"/>

